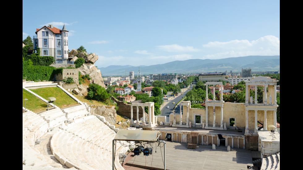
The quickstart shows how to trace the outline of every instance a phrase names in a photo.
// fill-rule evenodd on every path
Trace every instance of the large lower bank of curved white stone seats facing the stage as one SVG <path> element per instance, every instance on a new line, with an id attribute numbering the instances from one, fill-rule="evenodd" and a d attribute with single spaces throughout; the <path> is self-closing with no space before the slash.
<path id="1" fill-rule="evenodd" d="M 89 115 L 57 131 L 51 139 L 51 149 L 55 158 L 70 168 L 111 169 L 115 135 L 116 132 L 99 118 Z M 119 149 L 123 147 L 118 143 L 117 151 Z M 116 168 L 123 169 L 119 164 Z"/>

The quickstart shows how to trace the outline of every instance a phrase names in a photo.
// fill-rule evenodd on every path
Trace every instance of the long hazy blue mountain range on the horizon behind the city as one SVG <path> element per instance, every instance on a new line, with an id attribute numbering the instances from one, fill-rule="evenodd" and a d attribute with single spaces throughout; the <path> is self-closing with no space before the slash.
<path id="1" fill-rule="evenodd" d="M 99 68 L 102 76 L 129 75 L 130 71 L 138 73 L 139 66 L 110 65 Z M 280 70 L 280 56 L 245 56 L 224 59 L 190 59 L 184 61 L 172 61 L 165 64 L 140 66 L 141 74 L 159 73 L 206 73 L 206 72 L 240 72 L 241 68 L 251 68 L 255 71 L 277 71 Z"/>

